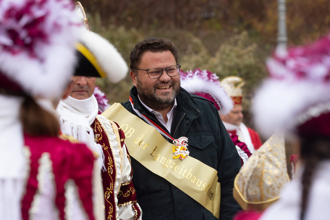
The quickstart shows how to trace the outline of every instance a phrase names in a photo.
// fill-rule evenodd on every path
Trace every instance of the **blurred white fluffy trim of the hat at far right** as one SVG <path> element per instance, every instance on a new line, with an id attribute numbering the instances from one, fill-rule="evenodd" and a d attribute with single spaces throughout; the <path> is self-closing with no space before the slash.
<path id="1" fill-rule="evenodd" d="M 298 116 L 309 107 L 330 100 L 330 85 L 308 80 L 266 80 L 253 103 L 255 126 L 265 137 L 278 131 L 294 131 Z"/>

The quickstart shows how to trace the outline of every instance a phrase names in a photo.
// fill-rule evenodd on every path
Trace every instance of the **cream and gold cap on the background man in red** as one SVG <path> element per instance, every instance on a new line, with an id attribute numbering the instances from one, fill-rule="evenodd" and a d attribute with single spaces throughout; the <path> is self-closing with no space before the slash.
<path id="1" fill-rule="evenodd" d="M 227 76 L 220 82 L 226 93 L 233 99 L 234 104 L 242 104 L 242 87 L 244 84 L 243 79 L 238 76 Z"/>

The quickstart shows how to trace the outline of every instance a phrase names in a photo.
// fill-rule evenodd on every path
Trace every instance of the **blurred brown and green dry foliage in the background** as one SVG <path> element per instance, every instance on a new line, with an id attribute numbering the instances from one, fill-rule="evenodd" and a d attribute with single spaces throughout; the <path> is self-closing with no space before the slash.
<path id="1" fill-rule="evenodd" d="M 251 97 L 266 76 L 265 59 L 277 39 L 276 0 L 81 0 L 91 30 L 112 42 L 129 64 L 138 41 L 172 40 L 180 51 L 182 70 L 209 69 L 220 79 L 241 76 L 245 121 L 250 122 Z M 330 1 L 286 0 L 288 45 L 316 40 L 330 27 Z M 97 85 L 109 103 L 128 100 L 129 75 L 118 84 Z"/>

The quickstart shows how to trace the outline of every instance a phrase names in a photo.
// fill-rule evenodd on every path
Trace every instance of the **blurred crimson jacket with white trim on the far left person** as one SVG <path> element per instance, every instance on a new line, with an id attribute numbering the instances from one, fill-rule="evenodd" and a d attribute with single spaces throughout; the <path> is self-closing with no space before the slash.
<path id="1" fill-rule="evenodd" d="M 92 152 L 84 144 L 58 137 L 25 134 L 24 141 L 30 167 L 22 199 L 23 219 L 94 219 Z"/>

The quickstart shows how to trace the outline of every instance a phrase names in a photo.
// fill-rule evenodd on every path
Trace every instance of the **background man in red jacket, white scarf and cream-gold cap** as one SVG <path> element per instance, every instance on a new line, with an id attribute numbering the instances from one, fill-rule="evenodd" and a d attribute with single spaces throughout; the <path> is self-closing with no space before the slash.
<path id="1" fill-rule="evenodd" d="M 220 118 L 229 134 L 236 134 L 244 142 L 251 153 L 261 146 L 261 140 L 256 131 L 243 123 L 242 87 L 244 81 L 238 76 L 228 76 L 221 80 L 220 85 L 232 98 L 234 106 L 228 114 L 220 114 Z"/>

